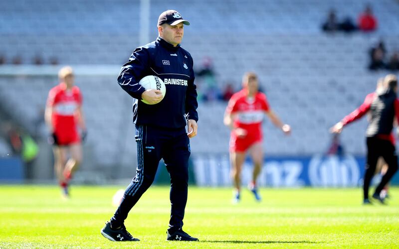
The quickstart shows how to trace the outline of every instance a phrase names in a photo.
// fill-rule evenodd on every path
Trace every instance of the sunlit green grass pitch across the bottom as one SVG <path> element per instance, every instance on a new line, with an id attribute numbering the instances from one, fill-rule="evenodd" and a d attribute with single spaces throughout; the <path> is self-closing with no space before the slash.
<path id="1" fill-rule="evenodd" d="M 245 190 L 238 205 L 229 188 L 189 188 L 184 230 L 200 242 L 167 242 L 169 187 L 151 187 L 126 227 L 141 242 L 100 235 L 119 186 L 72 186 L 63 200 L 56 186 L 0 186 L 0 248 L 398 248 L 399 188 L 386 206 L 362 206 L 361 190 Z"/>

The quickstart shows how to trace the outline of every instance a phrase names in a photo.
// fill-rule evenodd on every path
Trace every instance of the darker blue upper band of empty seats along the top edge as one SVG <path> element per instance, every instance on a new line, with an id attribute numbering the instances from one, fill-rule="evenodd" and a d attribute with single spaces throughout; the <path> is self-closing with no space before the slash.
<path id="1" fill-rule="evenodd" d="M 357 16 L 369 0 L 151 0 L 151 20 L 166 9 L 178 9 L 203 33 L 318 33 L 330 8 L 338 18 Z M 379 32 L 397 31 L 399 11 L 395 0 L 373 2 Z M 18 34 L 101 34 L 137 33 L 140 1 L 131 0 L 8 0 L 0 1 L 1 33 Z M 155 21 L 153 23 L 156 23 Z M 155 26 L 155 25 L 154 25 Z M 249 28 L 250 27 L 250 28 Z"/>

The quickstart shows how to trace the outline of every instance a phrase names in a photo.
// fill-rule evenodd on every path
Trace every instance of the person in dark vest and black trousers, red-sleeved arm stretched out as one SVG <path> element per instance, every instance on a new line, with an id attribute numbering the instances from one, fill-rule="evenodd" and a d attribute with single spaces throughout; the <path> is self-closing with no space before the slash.
<path id="1" fill-rule="evenodd" d="M 398 157 L 395 152 L 395 137 L 392 129 L 395 120 L 399 121 L 399 99 L 397 99 L 398 79 L 395 75 L 387 75 L 377 84 L 377 90 L 366 96 L 364 103 L 355 111 L 347 115 L 340 122 L 330 128 L 333 133 L 340 133 L 343 127 L 365 114 L 370 113 L 367 136 L 367 163 L 364 176 L 363 193 L 364 204 L 370 204 L 369 186 L 375 174 L 377 164 L 388 165 L 380 184 L 377 186 L 373 198 L 384 203 L 386 195 L 383 189 L 398 170 Z M 381 162 L 381 157 L 385 162 Z"/>

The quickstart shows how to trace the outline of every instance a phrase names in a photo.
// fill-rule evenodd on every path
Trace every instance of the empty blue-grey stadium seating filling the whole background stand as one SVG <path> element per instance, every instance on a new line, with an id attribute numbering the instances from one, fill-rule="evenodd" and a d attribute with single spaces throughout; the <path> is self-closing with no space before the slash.
<path id="1" fill-rule="evenodd" d="M 154 24 L 163 10 L 180 10 L 192 22 L 182 46 L 193 55 L 196 68 L 203 56 L 211 57 L 219 87 L 233 82 L 238 89 L 245 71 L 257 72 L 272 109 L 293 129 L 292 136 L 284 137 L 265 122 L 266 153 L 302 155 L 325 152 L 331 139 L 328 128 L 359 106 L 386 73 L 367 71 L 368 49 L 381 36 L 388 48 L 397 48 L 399 4 L 394 0 L 373 2 L 380 23 L 373 34 L 321 33 L 330 7 L 339 18 L 356 19 L 367 2 L 196 0 L 181 6 L 177 0 L 152 0 L 150 18 Z M 119 67 L 140 45 L 138 12 L 139 1 L 131 0 L 0 0 L 0 53 L 8 60 L 20 55 L 23 64 L 31 64 L 39 54 L 45 61 L 57 57 L 60 64 L 75 68 Z M 155 25 L 151 27 L 155 38 Z M 1 72 L 0 67 L 0 97 L 29 126 L 41 117 L 56 76 L 16 77 Z M 124 160 L 121 154 L 135 154 L 131 99 L 117 85 L 117 74 L 82 72 L 76 77 L 84 96 L 88 144 L 102 165 Z M 229 130 L 222 124 L 225 106 L 200 103 L 199 135 L 192 139 L 196 153 L 228 150 Z M 363 120 L 344 130 L 342 141 L 348 152 L 365 152 L 366 125 Z"/>

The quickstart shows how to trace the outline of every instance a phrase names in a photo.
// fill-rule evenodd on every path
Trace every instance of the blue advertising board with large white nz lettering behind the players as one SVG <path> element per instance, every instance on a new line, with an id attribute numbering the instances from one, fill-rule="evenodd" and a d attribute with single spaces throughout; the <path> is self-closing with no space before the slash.
<path id="1" fill-rule="evenodd" d="M 231 186 L 227 154 L 196 155 L 192 159 L 197 185 Z M 355 187 L 363 184 L 364 171 L 364 156 L 266 157 L 257 183 L 269 187 Z M 248 183 L 251 175 L 252 163 L 247 159 L 242 183 Z"/>

